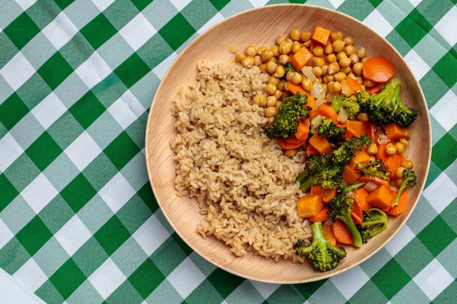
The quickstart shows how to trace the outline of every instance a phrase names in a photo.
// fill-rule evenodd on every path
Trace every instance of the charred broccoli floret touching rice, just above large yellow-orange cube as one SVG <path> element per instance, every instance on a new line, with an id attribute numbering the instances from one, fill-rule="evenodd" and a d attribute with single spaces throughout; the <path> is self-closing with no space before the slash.
<path id="1" fill-rule="evenodd" d="M 297 177 L 300 189 L 308 191 L 312 185 L 321 185 L 324 189 L 335 189 L 342 180 L 344 167 L 331 161 L 328 153 L 309 155 L 305 169 Z"/>

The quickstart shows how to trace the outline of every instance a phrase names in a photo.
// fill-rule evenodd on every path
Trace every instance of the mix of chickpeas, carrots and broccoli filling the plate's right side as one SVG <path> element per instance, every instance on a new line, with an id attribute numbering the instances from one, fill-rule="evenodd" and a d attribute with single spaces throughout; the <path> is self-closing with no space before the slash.
<path id="1" fill-rule="evenodd" d="M 295 29 L 271 48 L 246 47 L 236 61 L 271 75 L 267 96 L 253 99 L 266 107 L 266 135 L 286 156 L 308 155 L 297 212 L 313 222 L 313 242 L 299 239 L 294 249 L 331 270 L 346 256 L 339 244 L 361 247 L 405 210 L 416 183 L 405 158 L 417 111 L 402 103 L 392 63 L 367 57 L 341 31 Z"/>

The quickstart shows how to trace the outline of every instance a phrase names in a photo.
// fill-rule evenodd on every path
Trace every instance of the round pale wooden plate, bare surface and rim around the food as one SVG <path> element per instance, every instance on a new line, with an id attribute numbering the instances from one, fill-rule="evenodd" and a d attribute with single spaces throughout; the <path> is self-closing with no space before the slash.
<path id="1" fill-rule="evenodd" d="M 364 46 L 368 57 L 380 55 L 392 62 L 395 77 L 402 83 L 401 95 L 404 103 L 419 112 L 416 121 L 411 125 L 413 137 L 410 144 L 413 149 L 409 156 L 409 159 L 414 161 L 418 182 L 408 191 L 406 210 L 398 217 L 389 216 L 387 230 L 361 248 L 346 246 L 347 257 L 342 259 L 337 268 L 325 273 L 314 269 L 308 262 L 275 262 L 251 253 L 237 257 L 216 237 L 203 239 L 197 233 L 197 225 L 204 217 L 199 213 L 197 200 L 175 195 L 176 163 L 169 146 L 169 139 L 176 134 L 175 117 L 170 112 L 172 101 L 180 88 L 194 81 L 198 61 L 205 59 L 212 62 L 233 62 L 234 54 L 228 53 L 230 45 L 239 45 L 240 51 L 248 45 L 269 47 L 274 44 L 278 35 L 287 36 L 294 28 L 312 32 L 316 26 L 330 31 L 341 30 L 354 38 L 356 49 Z M 171 226 L 194 251 L 209 262 L 244 278 L 269 283 L 304 283 L 329 278 L 371 257 L 399 231 L 416 206 L 429 169 L 430 154 L 431 129 L 425 98 L 419 83 L 399 52 L 360 21 L 313 5 L 269 5 L 246 10 L 219 22 L 198 36 L 181 52 L 162 79 L 149 111 L 146 129 L 149 180 L 159 206 Z"/>

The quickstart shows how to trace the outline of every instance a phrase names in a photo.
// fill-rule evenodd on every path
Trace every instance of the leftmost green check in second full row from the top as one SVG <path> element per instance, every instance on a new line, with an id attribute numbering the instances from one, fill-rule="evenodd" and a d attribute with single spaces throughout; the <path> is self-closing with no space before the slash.
<path id="1" fill-rule="evenodd" d="M 54 90 L 73 72 L 73 68 L 59 52 L 55 52 L 37 72 L 49 88 Z"/>

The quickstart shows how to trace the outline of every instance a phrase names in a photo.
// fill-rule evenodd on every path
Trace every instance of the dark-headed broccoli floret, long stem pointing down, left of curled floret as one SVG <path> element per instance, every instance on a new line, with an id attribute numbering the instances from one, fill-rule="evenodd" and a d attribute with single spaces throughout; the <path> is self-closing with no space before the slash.
<path id="1" fill-rule="evenodd" d="M 336 219 L 343 221 L 351 232 L 352 245 L 361 247 L 362 237 L 351 217 L 352 207 L 354 206 L 355 201 L 354 198 L 345 196 L 344 193 L 340 193 L 329 201 L 328 207 L 330 210 L 327 211 L 327 215 L 329 216 L 330 221 L 335 221 Z"/>

